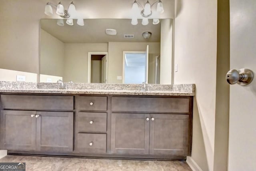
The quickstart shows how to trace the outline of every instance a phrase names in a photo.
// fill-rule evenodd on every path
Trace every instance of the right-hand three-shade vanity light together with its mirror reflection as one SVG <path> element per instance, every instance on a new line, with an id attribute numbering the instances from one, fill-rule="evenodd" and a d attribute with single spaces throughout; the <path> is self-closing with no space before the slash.
<path id="1" fill-rule="evenodd" d="M 140 12 L 140 15 L 143 17 L 142 25 L 147 25 L 148 24 L 148 21 L 147 21 L 148 17 L 150 17 L 152 15 L 151 7 L 156 3 L 157 3 L 156 12 L 158 12 L 158 14 L 162 14 L 164 12 L 164 5 L 163 5 L 161 0 L 158 0 L 158 1 L 154 2 L 152 5 L 150 5 L 149 1 L 147 1 L 144 7 L 142 6 L 142 4 L 140 4 L 140 2 L 134 0 L 134 2 L 132 4 L 132 14 L 133 14 L 133 16 L 132 16 L 132 25 L 137 25 L 138 24 L 137 14 L 140 12 L 138 5 L 140 5 L 141 8 L 142 8 L 142 10 Z M 154 19 L 153 20 L 153 24 L 158 24 L 158 23 L 159 23 L 159 19 Z"/>

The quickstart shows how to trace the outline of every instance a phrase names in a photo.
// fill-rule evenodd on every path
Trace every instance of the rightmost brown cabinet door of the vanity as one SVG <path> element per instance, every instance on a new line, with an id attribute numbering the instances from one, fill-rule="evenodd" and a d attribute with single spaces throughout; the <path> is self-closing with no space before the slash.
<path id="1" fill-rule="evenodd" d="M 151 114 L 149 153 L 188 154 L 189 115 Z"/>

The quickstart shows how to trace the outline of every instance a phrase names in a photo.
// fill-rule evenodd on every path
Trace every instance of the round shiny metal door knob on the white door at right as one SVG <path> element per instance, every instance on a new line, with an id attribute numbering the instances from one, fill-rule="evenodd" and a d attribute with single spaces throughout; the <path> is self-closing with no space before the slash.
<path id="1" fill-rule="evenodd" d="M 253 77 L 253 72 L 245 68 L 238 71 L 233 69 L 226 74 L 228 84 L 248 85 L 252 82 Z"/>

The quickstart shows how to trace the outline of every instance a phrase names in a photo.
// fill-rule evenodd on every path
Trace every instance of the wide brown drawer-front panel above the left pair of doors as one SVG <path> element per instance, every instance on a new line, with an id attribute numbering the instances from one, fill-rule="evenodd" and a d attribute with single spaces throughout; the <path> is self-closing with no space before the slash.
<path id="1" fill-rule="evenodd" d="M 3 109 L 73 110 L 73 96 L 1 95 Z"/>

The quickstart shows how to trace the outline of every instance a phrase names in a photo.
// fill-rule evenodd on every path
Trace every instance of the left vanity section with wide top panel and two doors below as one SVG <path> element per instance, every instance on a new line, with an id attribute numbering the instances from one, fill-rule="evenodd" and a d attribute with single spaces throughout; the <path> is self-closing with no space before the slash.
<path id="1" fill-rule="evenodd" d="M 1 149 L 72 152 L 73 103 L 72 96 L 1 95 Z"/>

